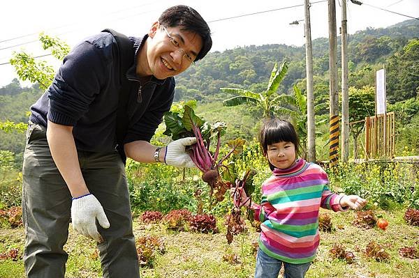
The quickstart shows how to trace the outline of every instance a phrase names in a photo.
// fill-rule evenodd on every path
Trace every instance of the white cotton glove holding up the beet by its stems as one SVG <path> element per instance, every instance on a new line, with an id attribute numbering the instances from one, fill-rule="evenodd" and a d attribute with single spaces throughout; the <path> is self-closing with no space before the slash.
<path id="1" fill-rule="evenodd" d="M 195 137 L 186 137 L 170 142 L 166 147 L 164 162 L 175 167 L 195 167 L 191 157 L 185 152 L 186 146 L 191 146 L 195 143 Z"/>

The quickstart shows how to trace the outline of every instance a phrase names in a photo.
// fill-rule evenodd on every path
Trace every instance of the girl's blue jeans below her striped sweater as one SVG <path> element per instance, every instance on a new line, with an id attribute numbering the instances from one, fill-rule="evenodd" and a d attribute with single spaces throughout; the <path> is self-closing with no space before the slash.
<path id="1" fill-rule="evenodd" d="M 311 263 L 286 263 L 265 254 L 260 248 L 256 256 L 255 278 L 277 278 L 284 263 L 284 278 L 304 278 Z"/>

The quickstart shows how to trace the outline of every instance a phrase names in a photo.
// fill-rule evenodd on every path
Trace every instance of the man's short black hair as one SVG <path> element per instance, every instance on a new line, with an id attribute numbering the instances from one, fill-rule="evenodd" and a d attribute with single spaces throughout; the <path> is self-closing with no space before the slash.
<path id="1" fill-rule="evenodd" d="M 173 6 L 165 10 L 159 17 L 159 22 L 166 27 L 179 26 L 182 31 L 198 34 L 203 40 L 203 47 L 195 61 L 203 59 L 212 47 L 210 27 L 200 14 L 189 6 Z"/>

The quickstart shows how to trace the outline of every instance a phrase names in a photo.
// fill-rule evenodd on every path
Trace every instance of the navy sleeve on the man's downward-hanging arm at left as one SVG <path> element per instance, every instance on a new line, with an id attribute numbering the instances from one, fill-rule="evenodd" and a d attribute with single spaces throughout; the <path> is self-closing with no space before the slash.
<path id="1" fill-rule="evenodd" d="M 48 120 L 75 125 L 101 91 L 105 68 L 96 46 L 87 41 L 76 46 L 64 58 L 48 88 Z"/>

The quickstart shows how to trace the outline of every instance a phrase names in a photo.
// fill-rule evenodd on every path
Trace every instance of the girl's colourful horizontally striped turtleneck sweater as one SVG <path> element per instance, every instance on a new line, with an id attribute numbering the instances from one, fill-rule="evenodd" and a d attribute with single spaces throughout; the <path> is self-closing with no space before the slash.
<path id="1" fill-rule="evenodd" d="M 298 159 L 288 169 L 274 169 L 262 185 L 262 201 L 254 206 L 261 222 L 259 247 L 286 263 L 313 261 L 320 236 L 320 207 L 344 211 L 341 196 L 328 189 L 328 175 L 317 164 Z"/>

